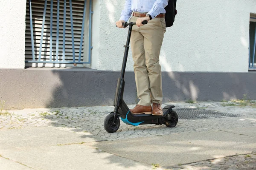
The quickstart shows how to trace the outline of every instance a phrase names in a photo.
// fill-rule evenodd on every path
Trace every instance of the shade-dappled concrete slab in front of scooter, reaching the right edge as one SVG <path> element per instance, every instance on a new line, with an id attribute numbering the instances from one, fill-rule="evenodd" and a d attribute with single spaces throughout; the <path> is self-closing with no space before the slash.
<path id="1" fill-rule="evenodd" d="M 255 132 L 256 128 L 252 130 Z M 224 131 L 207 131 L 88 143 L 88 145 L 146 164 L 171 166 L 237 153 L 250 153 L 256 148 L 256 138 Z"/>

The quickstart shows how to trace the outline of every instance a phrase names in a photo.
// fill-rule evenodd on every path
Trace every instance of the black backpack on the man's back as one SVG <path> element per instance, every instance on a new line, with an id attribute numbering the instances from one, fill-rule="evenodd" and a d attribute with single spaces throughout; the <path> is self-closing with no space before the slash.
<path id="1" fill-rule="evenodd" d="M 177 0 L 169 0 L 168 5 L 164 8 L 166 10 L 166 27 L 171 27 L 174 23 L 175 15 L 177 14 L 176 2 Z"/>

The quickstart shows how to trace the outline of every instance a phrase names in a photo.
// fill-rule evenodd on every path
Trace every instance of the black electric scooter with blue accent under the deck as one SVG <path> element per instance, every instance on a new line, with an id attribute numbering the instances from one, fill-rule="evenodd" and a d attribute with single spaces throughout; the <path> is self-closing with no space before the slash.
<path id="1" fill-rule="evenodd" d="M 142 24 L 147 24 L 147 21 L 143 21 Z M 119 129 L 120 119 L 127 125 L 146 125 L 146 124 L 156 124 L 156 125 L 166 125 L 167 127 L 175 127 L 178 122 L 178 115 L 172 108 L 175 108 L 173 105 L 168 105 L 163 108 L 163 116 L 153 116 L 152 114 L 132 114 L 128 106 L 123 100 L 123 93 L 125 88 L 125 67 L 128 57 L 129 44 L 131 39 L 132 26 L 136 23 L 124 23 L 124 27 L 128 27 L 128 37 L 126 41 L 125 54 L 122 62 L 121 76 L 118 79 L 116 94 L 114 100 L 114 111 L 108 114 L 104 120 L 105 130 L 109 133 L 114 133 Z"/>

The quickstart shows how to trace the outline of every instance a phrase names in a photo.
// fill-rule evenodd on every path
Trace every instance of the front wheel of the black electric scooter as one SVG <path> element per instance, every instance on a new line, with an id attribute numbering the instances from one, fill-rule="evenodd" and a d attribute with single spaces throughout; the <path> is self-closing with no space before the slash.
<path id="1" fill-rule="evenodd" d="M 120 119 L 116 120 L 114 123 L 114 113 L 110 113 L 108 116 L 105 117 L 104 120 L 104 128 L 108 133 L 116 132 L 120 127 Z"/>

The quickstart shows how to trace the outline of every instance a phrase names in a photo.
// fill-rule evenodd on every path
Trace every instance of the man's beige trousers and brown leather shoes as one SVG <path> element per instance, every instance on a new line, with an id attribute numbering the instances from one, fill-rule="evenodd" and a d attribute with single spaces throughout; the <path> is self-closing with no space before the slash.
<path id="1" fill-rule="evenodd" d="M 131 17 L 136 22 L 138 17 Z M 166 31 L 165 19 L 156 17 L 148 24 L 132 28 L 131 50 L 134 60 L 134 73 L 137 94 L 140 102 L 131 109 L 134 114 L 151 113 L 163 115 L 162 75 L 159 63 L 160 49 Z M 151 108 L 153 104 L 153 109 Z"/>

